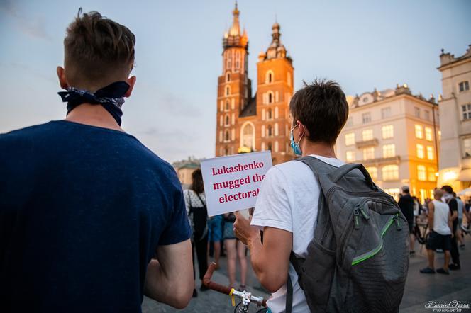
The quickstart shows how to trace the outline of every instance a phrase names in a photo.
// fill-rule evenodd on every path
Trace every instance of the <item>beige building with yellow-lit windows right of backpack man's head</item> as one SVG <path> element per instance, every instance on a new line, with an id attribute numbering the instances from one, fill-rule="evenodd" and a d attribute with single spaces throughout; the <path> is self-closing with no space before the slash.
<path id="1" fill-rule="evenodd" d="M 362 163 L 377 185 L 397 197 L 401 186 L 431 198 L 438 175 L 438 105 L 433 97 L 412 95 L 408 86 L 348 96 L 348 122 L 336 154 Z"/>

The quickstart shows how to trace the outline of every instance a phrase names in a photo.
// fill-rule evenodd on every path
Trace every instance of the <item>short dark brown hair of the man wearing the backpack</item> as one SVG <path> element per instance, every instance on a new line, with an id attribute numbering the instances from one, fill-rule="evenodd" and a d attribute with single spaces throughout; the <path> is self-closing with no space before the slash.
<path id="1" fill-rule="evenodd" d="M 289 110 L 309 130 L 308 140 L 335 144 L 347 122 L 348 103 L 336 81 L 316 79 L 294 93 Z"/>

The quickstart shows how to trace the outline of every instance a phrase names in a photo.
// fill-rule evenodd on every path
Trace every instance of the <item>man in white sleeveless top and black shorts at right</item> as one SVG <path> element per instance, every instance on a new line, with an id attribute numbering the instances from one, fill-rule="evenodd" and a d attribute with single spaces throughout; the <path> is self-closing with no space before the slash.
<path id="1" fill-rule="evenodd" d="M 451 237 L 453 237 L 453 222 L 451 211 L 446 203 L 442 200 L 443 190 L 435 188 L 433 190 L 434 200 L 428 203 L 428 227 L 430 234 L 426 243 L 428 266 L 420 270 L 424 274 L 433 274 L 435 272 L 441 274 L 450 274 L 448 271 L 450 262 Z M 433 266 L 434 251 L 442 249 L 445 254 L 443 268 L 435 271 Z"/>

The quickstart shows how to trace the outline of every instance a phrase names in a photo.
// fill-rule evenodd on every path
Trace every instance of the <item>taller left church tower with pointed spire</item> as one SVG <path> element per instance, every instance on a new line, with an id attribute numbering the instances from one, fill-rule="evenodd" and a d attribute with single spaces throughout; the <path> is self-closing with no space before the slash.
<path id="1" fill-rule="evenodd" d="M 238 153 L 238 118 L 251 98 L 248 79 L 248 36 L 240 31 L 237 2 L 233 23 L 223 36 L 223 71 L 218 77 L 216 157 Z"/>

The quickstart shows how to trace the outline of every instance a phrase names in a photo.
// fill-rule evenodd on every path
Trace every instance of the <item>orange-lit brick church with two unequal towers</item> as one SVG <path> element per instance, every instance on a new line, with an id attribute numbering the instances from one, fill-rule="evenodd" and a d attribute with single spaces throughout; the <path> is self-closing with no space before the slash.
<path id="1" fill-rule="evenodd" d="M 218 77 L 216 157 L 272 151 L 274 164 L 293 159 L 289 146 L 289 100 L 293 94 L 292 59 L 282 45 L 279 24 L 272 42 L 260 52 L 257 91 L 248 78 L 248 35 L 240 31 L 237 3 L 233 23 L 223 36 L 223 71 Z"/>

